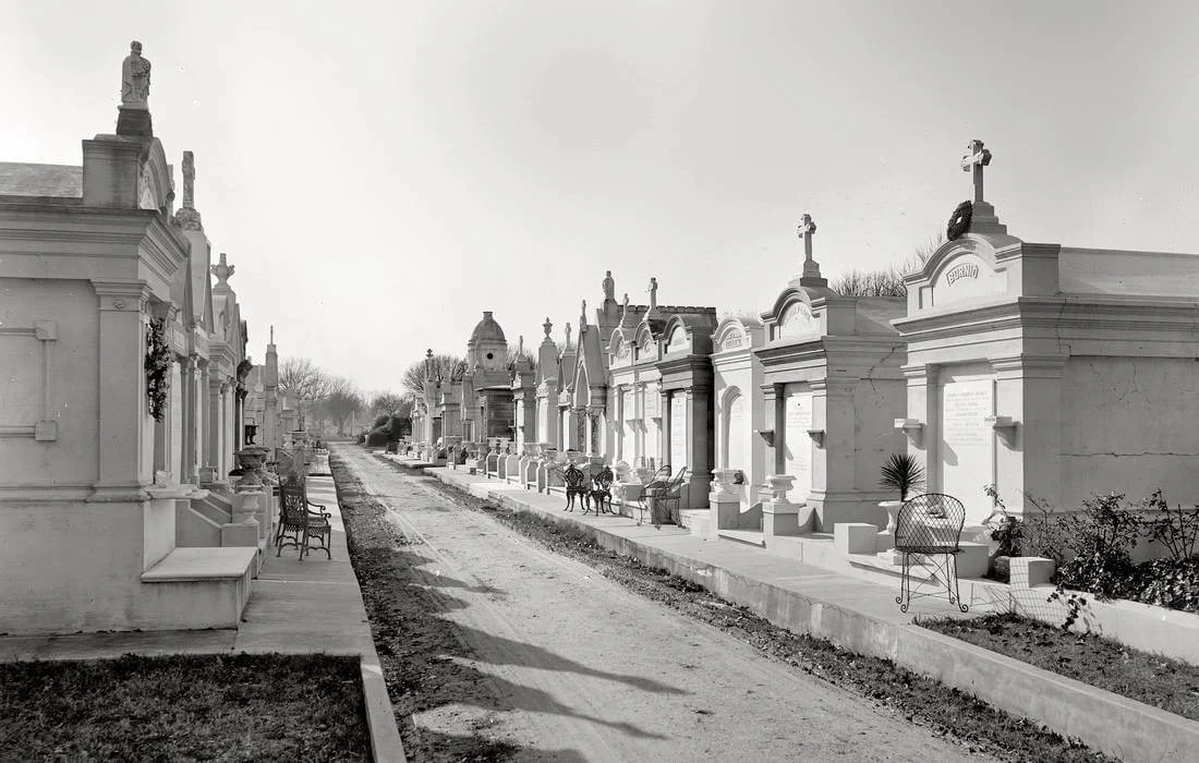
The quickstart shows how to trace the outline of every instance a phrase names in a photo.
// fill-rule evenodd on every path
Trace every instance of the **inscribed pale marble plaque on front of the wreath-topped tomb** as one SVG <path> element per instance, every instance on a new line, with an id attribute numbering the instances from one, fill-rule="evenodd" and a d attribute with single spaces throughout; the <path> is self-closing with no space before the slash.
<path id="1" fill-rule="evenodd" d="M 941 387 L 941 492 L 966 507 L 966 523 L 990 513 L 982 488 L 995 480 L 995 433 L 983 421 L 995 410 L 992 379 L 950 382 Z"/>

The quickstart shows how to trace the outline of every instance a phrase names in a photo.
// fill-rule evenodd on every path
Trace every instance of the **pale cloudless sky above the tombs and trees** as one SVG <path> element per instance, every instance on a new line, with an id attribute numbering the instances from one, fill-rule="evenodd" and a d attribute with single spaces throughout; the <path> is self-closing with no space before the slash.
<path id="1" fill-rule="evenodd" d="M 155 136 L 269 326 L 367 391 L 616 298 L 767 308 L 970 198 L 1066 246 L 1199 252 L 1199 4 L 0 0 L 0 161 L 80 164 L 152 65 Z M 594 316 L 594 313 L 591 313 Z M 591 318 L 594 320 L 594 317 Z"/>

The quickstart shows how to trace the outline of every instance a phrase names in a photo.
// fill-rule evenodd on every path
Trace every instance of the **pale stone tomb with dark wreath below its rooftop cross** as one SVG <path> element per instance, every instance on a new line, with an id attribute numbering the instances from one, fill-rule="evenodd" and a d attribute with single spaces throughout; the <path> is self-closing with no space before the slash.
<path id="1" fill-rule="evenodd" d="M 981 174 L 981 168 L 976 169 Z M 1008 235 L 976 186 L 969 229 L 909 278 L 908 411 L 928 489 L 992 511 L 1025 495 L 1199 499 L 1199 256 Z"/>

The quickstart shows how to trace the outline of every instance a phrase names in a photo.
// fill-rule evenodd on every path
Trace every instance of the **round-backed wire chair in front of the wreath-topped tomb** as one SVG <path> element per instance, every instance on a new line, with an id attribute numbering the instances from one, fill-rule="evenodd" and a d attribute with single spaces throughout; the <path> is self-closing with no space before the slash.
<path id="1" fill-rule="evenodd" d="M 958 590 L 957 555 L 962 553 L 962 525 L 965 519 L 966 510 L 962 501 L 942 493 L 916 495 L 899 507 L 899 516 L 896 518 L 896 551 L 903 553 L 903 570 L 896 603 L 900 612 L 908 612 L 908 605 L 911 603 L 912 557 L 928 559 L 933 564 L 936 576 L 945 583 L 951 605 L 957 605 L 963 612 L 970 609 L 962 602 Z M 940 588 L 940 584 L 936 587 Z M 934 596 L 938 593 L 917 593 L 916 596 Z"/>

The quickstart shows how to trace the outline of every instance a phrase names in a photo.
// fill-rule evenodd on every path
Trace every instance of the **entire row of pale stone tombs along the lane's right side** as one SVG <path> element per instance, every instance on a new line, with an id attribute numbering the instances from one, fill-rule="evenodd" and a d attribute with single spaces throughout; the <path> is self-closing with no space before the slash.
<path id="1" fill-rule="evenodd" d="M 429 366 L 409 447 L 511 479 L 538 461 L 607 464 L 626 499 L 685 467 L 683 524 L 767 546 L 881 525 L 899 495 L 880 469 L 900 452 L 927 492 L 965 505 L 966 536 L 994 510 L 988 485 L 1017 512 L 1110 491 L 1193 503 L 1199 257 L 1022 241 L 980 186 L 905 298 L 830 290 L 805 216 L 802 275 L 761 316 L 658 305 L 656 280 L 649 304 L 617 302 L 609 271 L 565 348 L 547 319 L 536 358 L 522 338 L 508 361 L 484 312 L 464 373 Z"/>

